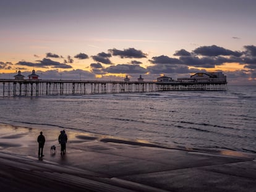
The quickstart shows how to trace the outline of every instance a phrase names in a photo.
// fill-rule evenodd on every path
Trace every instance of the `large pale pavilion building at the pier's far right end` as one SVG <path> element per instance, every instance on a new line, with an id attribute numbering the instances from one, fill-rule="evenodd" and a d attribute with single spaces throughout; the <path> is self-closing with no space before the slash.
<path id="1" fill-rule="evenodd" d="M 195 73 L 190 78 L 177 78 L 177 81 L 189 83 L 207 83 L 207 82 L 220 82 L 226 83 L 226 75 L 222 72 L 211 72 L 211 73 Z"/>

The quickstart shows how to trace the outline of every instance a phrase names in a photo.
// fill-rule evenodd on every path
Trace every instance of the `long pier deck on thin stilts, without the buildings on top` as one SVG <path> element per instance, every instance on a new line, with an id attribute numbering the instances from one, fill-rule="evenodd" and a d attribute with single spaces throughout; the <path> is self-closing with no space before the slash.
<path id="1" fill-rule="evenodd" d="M 226 81 L 84 81 L 0 79 L 0 96 L 147 93 L 157 91 L 223 91 Z"/>

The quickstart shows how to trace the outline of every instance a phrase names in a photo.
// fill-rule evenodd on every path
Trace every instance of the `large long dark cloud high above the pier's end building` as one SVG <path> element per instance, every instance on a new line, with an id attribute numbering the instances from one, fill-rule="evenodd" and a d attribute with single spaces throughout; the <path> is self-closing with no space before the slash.
<path id="1" fill-rule="evenodd" d="M 236 56 L 240 57 L 242 52 L 231 51 L 224 49 L 216 45 L 212 46 L 201 46 L 193 51 L 195 54 L 200 56 Z"/>

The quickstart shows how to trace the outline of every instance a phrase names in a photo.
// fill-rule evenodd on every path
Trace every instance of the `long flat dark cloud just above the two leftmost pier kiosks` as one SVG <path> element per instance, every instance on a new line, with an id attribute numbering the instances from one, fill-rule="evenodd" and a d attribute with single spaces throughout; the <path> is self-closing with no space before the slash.
<path id="1" fill-rule="evenodd" d="M 71 69 L 72 66 L 67 65 L 67 64 L 62 64 L 57 61 L 52 61 L 51 59 L 46 59 L 44 58 L 41 61 L 36 61 L 35 63 L 33 62 L 26 62 L 26 61 L 20 61 L 16 65 L 24 65 L 28 67 L 41 67 L 41 68 L 61 68 L 61 69 Z"/>

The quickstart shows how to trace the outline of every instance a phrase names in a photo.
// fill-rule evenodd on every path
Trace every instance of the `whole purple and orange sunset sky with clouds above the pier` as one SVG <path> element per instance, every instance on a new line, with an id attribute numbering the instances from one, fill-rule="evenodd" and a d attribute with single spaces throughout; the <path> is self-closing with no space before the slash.
<path id="1" fill-rule="evenodd" d="M 256 85 L 254 0 L 1 0 L 0 78 L 155 80 L 221 71 Z"/>

